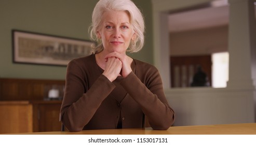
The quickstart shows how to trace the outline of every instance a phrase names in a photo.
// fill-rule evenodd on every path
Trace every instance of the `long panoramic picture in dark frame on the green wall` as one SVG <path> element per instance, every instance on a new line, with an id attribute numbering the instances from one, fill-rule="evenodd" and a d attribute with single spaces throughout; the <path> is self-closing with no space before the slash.
<path id="1" fill-rule="evenodd" d="M 92 45 L 89 40 L 12 30 L 14 63 L 66 66 L 89 55 Z"/>

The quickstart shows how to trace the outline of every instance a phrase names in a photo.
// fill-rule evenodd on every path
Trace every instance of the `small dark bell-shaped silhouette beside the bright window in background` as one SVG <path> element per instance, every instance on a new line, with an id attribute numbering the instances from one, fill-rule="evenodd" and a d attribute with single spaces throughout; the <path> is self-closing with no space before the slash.
<path id="1" fill-rule="evenodd" d="M 193 77 L 191 86 L 209 86 L 208 77 L 201 66 L 197 66 L 197 71 Z"/>

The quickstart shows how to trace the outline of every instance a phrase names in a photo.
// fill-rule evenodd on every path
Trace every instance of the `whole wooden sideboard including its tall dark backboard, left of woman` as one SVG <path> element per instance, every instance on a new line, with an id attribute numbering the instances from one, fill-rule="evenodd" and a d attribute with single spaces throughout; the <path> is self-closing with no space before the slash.
<path id="1" fill-rule="evenodd" d="M 0 78 L 0 133 L 61 130 L 60 100 L 48 100 L 51 86 L 64 89 L 65 80 Z"/>

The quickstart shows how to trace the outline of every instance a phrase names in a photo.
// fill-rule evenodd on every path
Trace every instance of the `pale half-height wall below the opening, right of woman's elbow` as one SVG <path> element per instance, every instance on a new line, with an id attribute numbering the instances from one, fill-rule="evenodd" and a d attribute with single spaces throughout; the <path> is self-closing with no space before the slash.
<path id="1" fill-rule="evenodd" d="M 165 90 L 176 112 L 174 126 L 255 122 L 254 89 Z"/>

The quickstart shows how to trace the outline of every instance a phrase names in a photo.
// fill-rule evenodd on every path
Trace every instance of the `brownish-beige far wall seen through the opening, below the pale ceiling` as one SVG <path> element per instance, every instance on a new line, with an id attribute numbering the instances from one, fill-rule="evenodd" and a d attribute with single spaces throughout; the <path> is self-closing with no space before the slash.
<path id="1" fill-rule="evenodd" d="M 170 55 L 205 55 L 227 51 L 228 26 L 170 33 Z"/>

